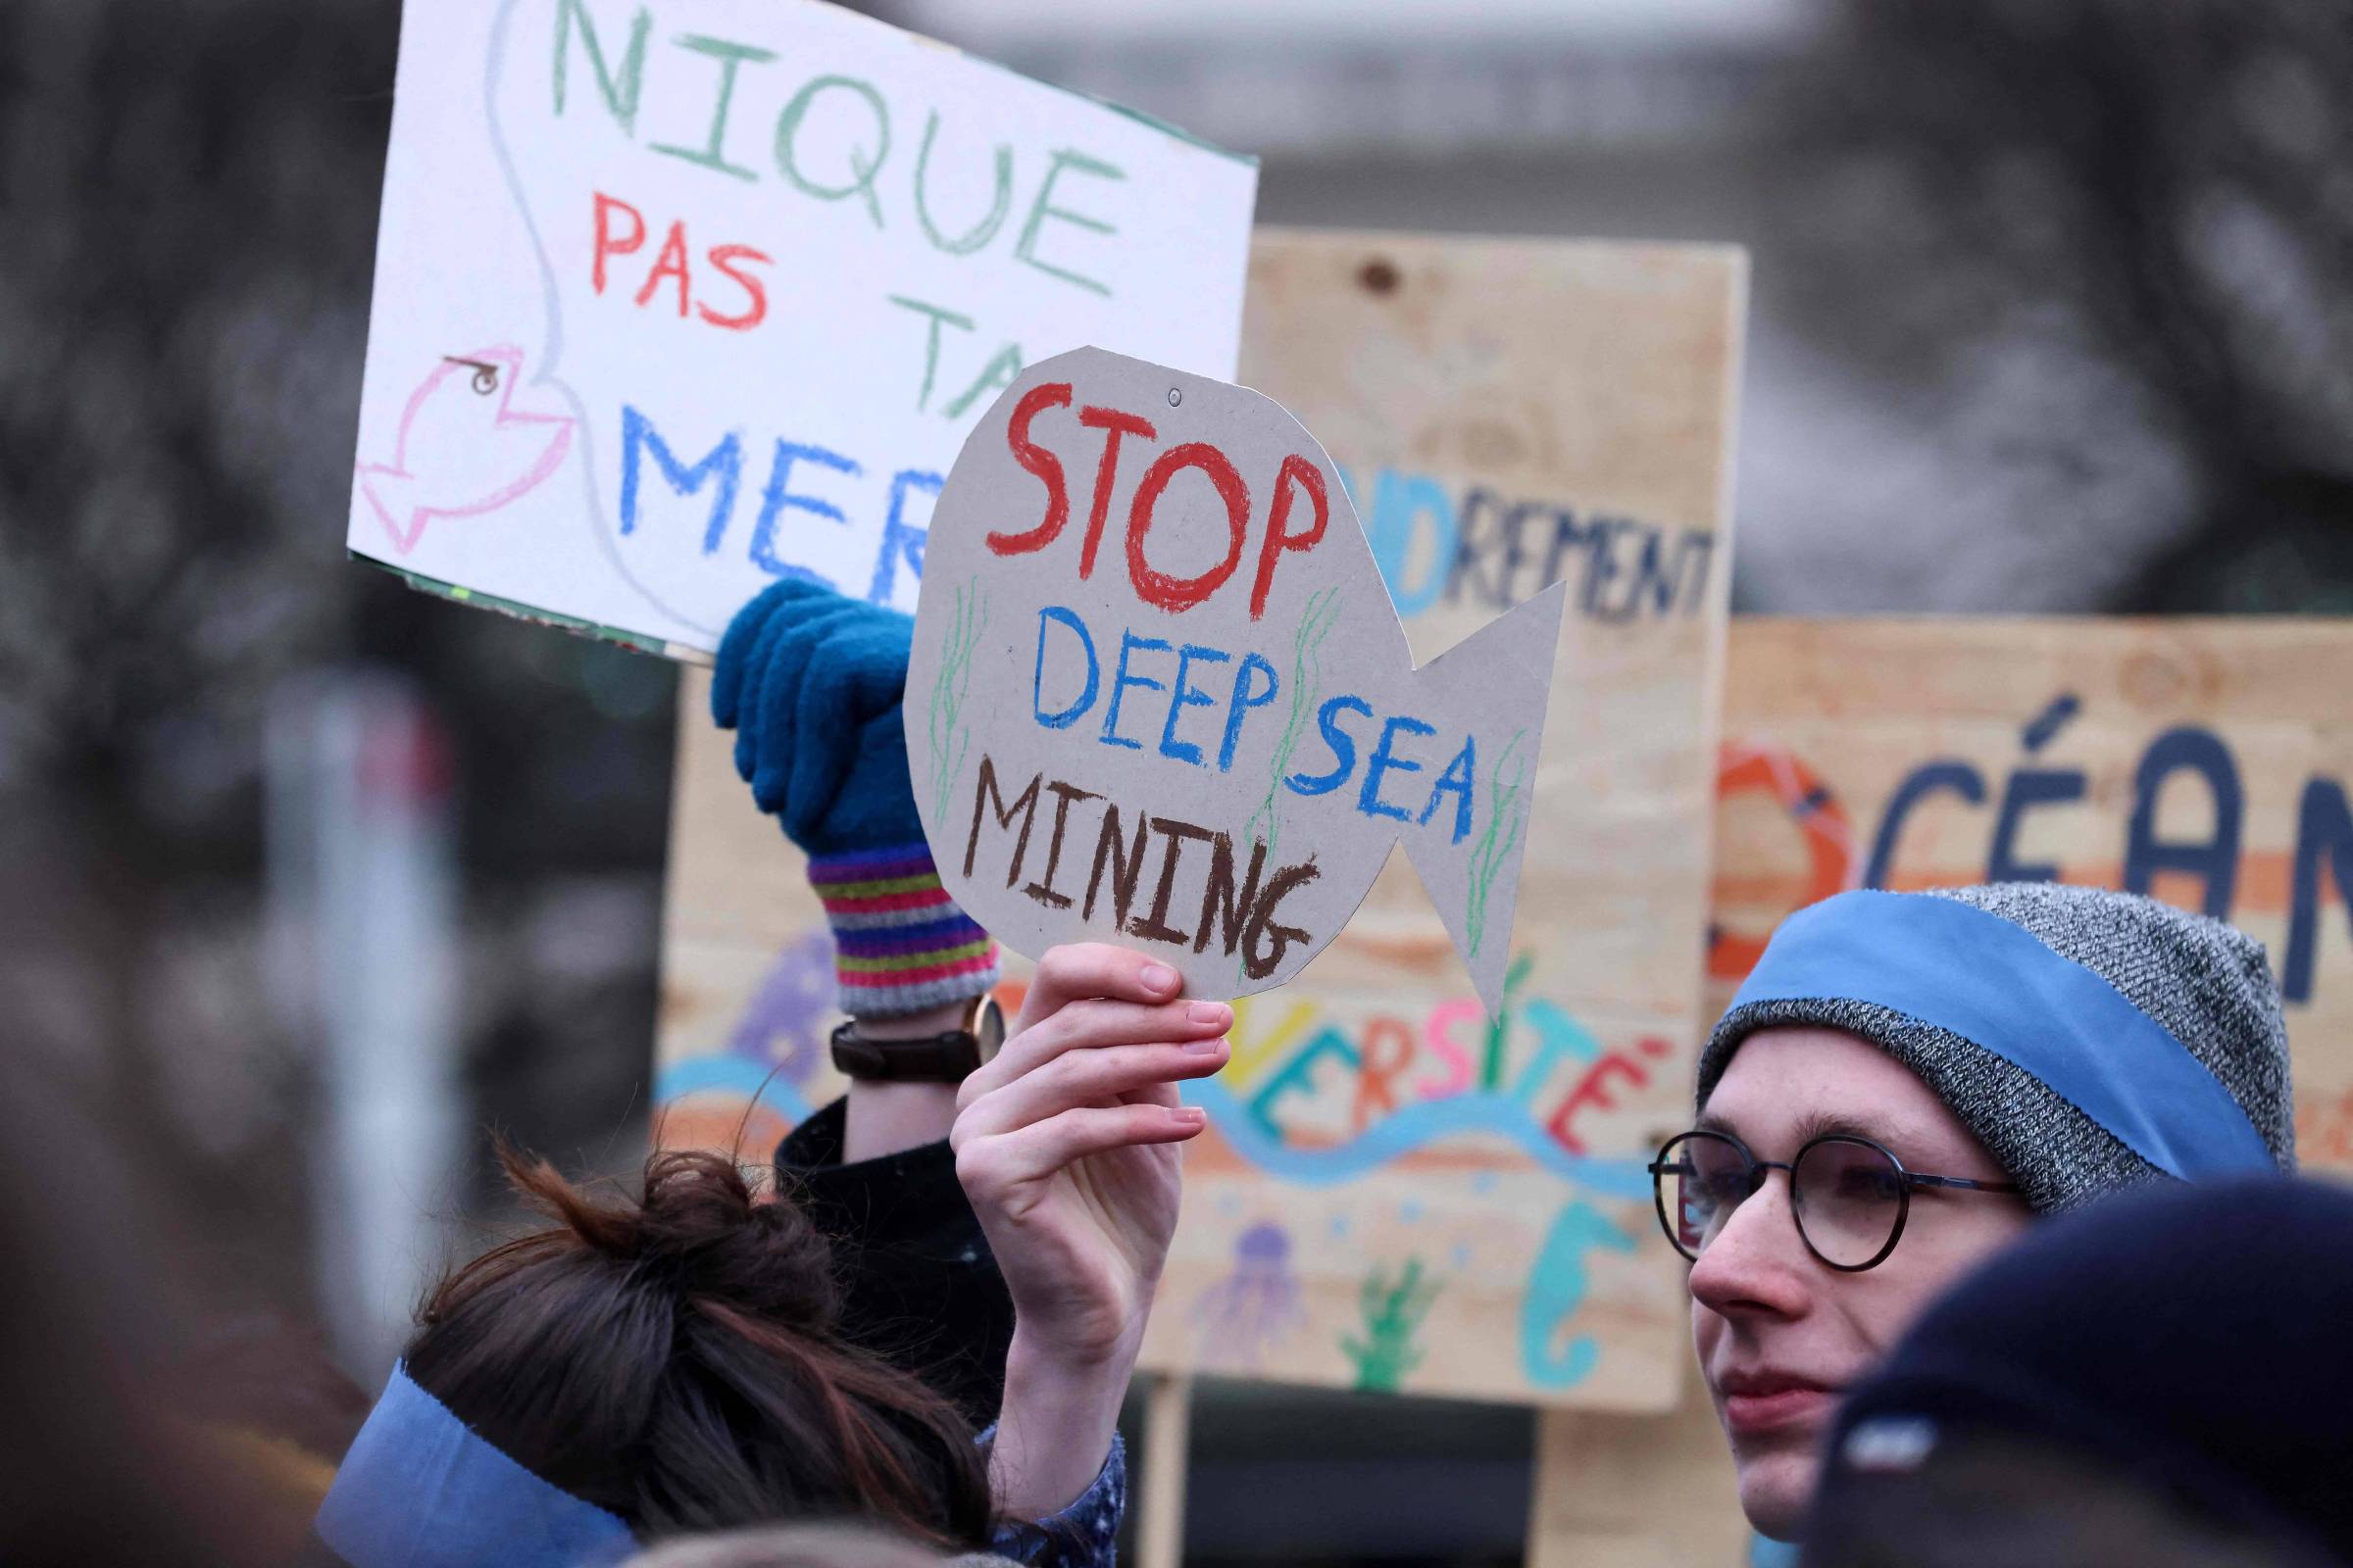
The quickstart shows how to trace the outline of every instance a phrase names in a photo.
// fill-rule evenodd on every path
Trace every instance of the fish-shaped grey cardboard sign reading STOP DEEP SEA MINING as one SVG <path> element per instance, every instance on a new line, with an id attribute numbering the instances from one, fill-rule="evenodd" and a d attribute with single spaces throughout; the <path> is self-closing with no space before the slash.
<path id="1" fill-rule="evenodd" d="M 1242 997 L 1402 842 L 1492 1013 L 1562 595 L 1417 670 L 1282 404 L 1101 348 L 1033 364 L 932 512 L 906 684 L 932 856 L 1021 952 L 1113 940 Z"/>

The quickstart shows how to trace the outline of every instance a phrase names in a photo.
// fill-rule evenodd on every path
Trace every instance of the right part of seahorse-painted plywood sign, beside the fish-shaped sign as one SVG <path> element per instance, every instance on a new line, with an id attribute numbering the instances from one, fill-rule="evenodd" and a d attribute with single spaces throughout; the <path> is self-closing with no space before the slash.
<path id="1" fill-rule="evenodd" d="M 1567 590 L 1504 1006 L 1393 865 L 1198 1100 L 1146 1359 L 1666 1408 L 1706 929 L 1744 263 L 1708 247 L 1280 235 L 1242 381 L 1332 451 L 1417 658 Z"/>

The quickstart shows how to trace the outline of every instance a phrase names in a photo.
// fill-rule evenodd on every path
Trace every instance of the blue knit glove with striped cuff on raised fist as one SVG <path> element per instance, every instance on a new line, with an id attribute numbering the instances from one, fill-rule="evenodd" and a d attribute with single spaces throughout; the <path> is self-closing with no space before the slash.
<path id="1" fill-rule="evenodd" d="M 915 623 L 816 583 L 781 581 L 720 639 L 711 717 L 736 773 L 809 853 L 833 926 L 842 1011 L 920 1013 L 979 997 L 998 950 L 939 884 L 906 771 Z"/>

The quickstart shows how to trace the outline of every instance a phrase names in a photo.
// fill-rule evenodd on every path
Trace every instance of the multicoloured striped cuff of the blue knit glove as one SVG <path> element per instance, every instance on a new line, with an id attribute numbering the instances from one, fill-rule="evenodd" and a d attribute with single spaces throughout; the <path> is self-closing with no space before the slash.
<path id="1" fill-rule="evenodd" d="M 809 856 L 833 926 L 835 978 L 852 1018 L 894 1018 L 979 997 L 998 945 L 939 886 L 925 844 Z"/>

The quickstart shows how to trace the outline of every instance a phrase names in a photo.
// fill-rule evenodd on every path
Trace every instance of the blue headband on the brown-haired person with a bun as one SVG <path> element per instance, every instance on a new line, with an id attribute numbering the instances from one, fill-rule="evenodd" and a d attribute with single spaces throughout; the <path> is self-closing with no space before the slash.
<path id="1" fill-rule="evenodd" d="M 318 1509 L 351 1568 L 602 1568 L 638 1549 L 614 1514 L 541 1481 L 393 1368 Z"/>

